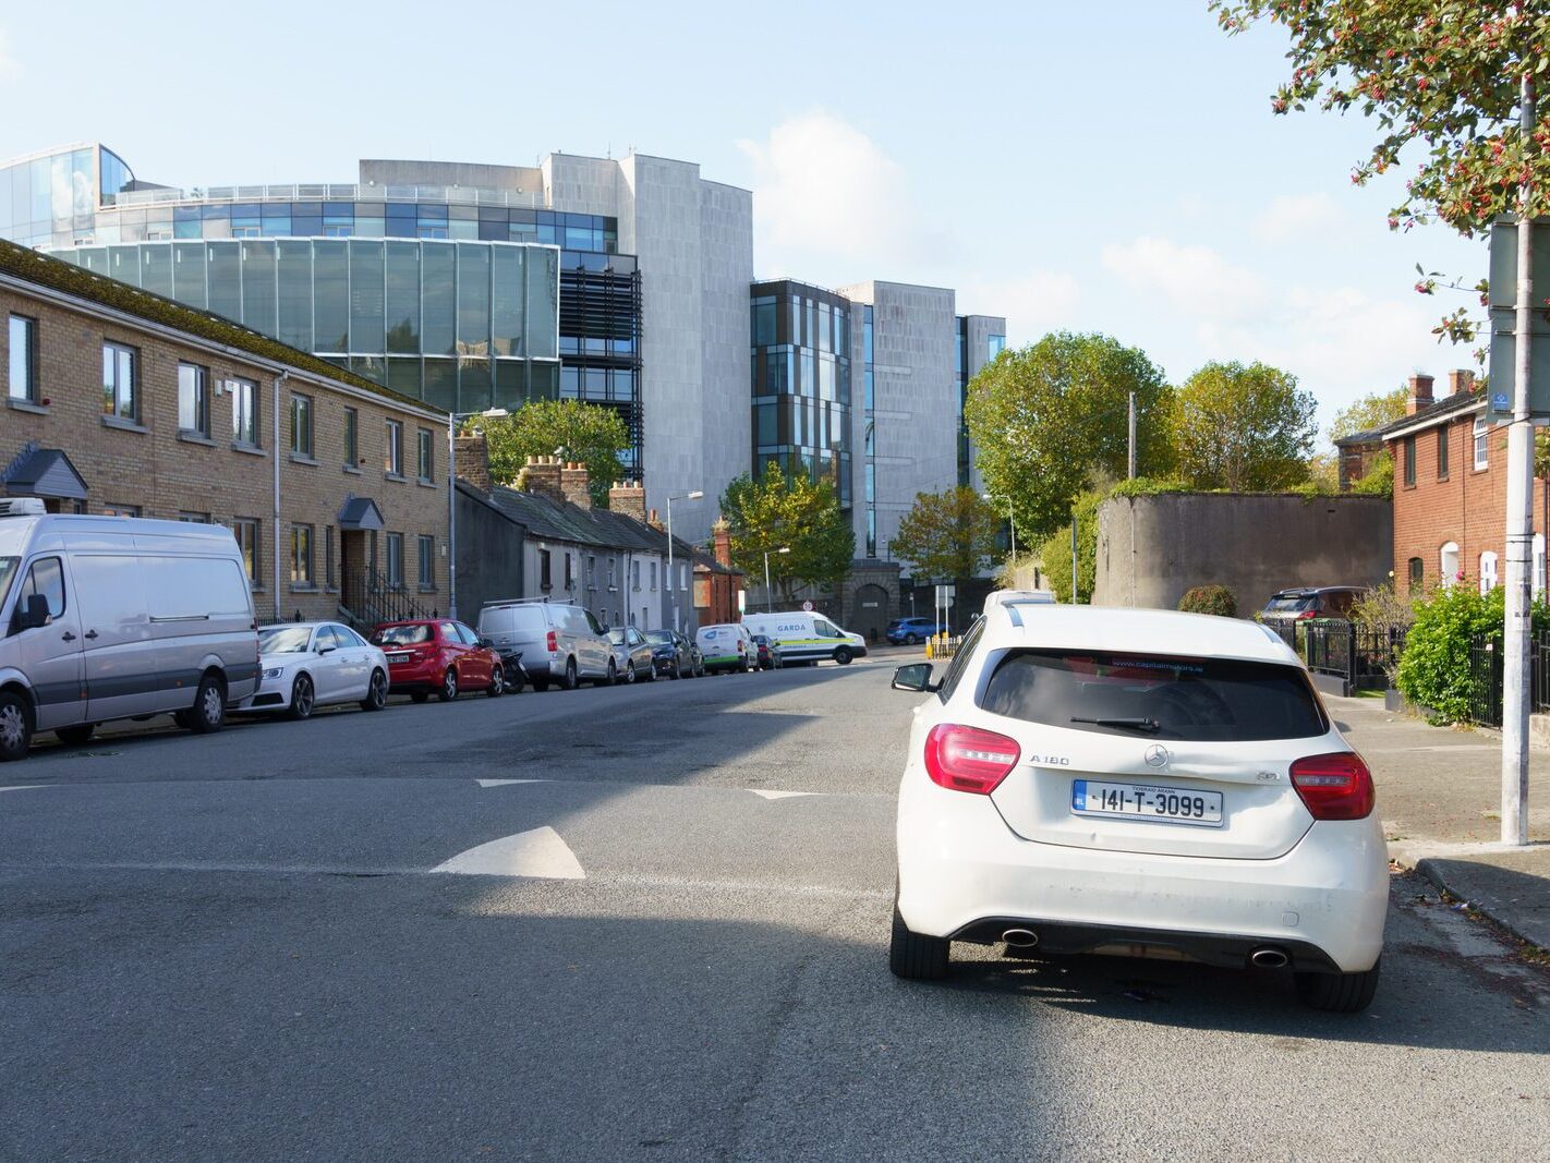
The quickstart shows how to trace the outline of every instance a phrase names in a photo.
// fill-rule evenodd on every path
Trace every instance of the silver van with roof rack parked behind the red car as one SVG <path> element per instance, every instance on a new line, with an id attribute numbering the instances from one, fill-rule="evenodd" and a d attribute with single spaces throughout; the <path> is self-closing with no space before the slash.
<path id="1" fill-rule="evenodd" d="M 549 690 L 558 682 L 575 690 L 581 682 L 612 684 L 618 664 L 603 623 L 591 611 L 566 602 L 535 597 L 519 602 L 488 602 L 479 611 L 479 637 L 494 644 L 510 668 L 516 654 L 533 682 Z"/>

